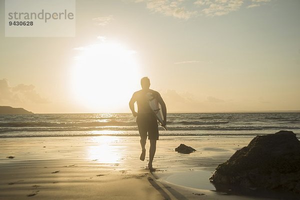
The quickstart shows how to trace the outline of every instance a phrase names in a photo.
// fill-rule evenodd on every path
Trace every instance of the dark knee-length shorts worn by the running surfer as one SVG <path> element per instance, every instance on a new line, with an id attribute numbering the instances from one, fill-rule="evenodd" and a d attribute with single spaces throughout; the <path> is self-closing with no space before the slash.
<path id="1" fill-rule="evenodd" d="M 141 138 L 158 140 L 158 124 L 153 113 L 138 113 L 136 117 L 138 132 Z"/>

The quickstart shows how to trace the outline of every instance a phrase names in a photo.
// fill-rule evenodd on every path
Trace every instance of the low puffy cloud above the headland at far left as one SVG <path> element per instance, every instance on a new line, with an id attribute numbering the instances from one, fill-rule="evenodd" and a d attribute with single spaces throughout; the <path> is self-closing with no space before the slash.
<path id="1" fill-rule="evenodd" d="M 25 102 L 48 103 L 35 91 L 34 85 L 18 84 L 11 87 L 7 79 L 0 79 L 0 103 L 20 105 Z"/>

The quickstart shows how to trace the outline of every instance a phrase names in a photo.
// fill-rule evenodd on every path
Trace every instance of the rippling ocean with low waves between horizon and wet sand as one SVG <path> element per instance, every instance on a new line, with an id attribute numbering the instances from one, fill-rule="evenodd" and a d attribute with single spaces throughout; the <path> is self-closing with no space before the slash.
<path id="1" fill-rule="evenodd" d="M 168 113 L 166 136 L 254 136 L 291 130 L 300 137 L 300 112 Z M 0 137 L 138 135 L 130 113 L 0 115 Z M 173 137 L 172 137 L 173 138 Z"/>

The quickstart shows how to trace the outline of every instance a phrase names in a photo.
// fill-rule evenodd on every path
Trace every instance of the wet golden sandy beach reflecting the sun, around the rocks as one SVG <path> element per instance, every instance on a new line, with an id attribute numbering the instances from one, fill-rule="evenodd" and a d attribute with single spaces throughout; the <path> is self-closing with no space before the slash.
<path id="1" fill-rule="evenodd" d="M 214 191 L 214 168 L 252 137 L 161 136 L 153 167 L 137 136 L 19 137 L 0 140 L 1 199 L 266 199 Z M 197 151 L 174 151 L 180 143 Z M 146 147 L 148 148 L 148 143 Z M 8 158 L 7 156 L 14 156 Z"/>

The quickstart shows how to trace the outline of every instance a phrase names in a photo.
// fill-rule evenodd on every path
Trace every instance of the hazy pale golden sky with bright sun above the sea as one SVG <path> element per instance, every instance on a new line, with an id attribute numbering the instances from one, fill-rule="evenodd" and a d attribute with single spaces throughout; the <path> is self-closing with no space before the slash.
<path id="1" fill-rule="evenodd" d="M 168 112 L 300 110 L 299 0 L 76 0 L 74 37 L 5 37 L 0 105 L 130 112 L 148 76 Z M 4 27 L 4 0 L 0 26 Z"/>

